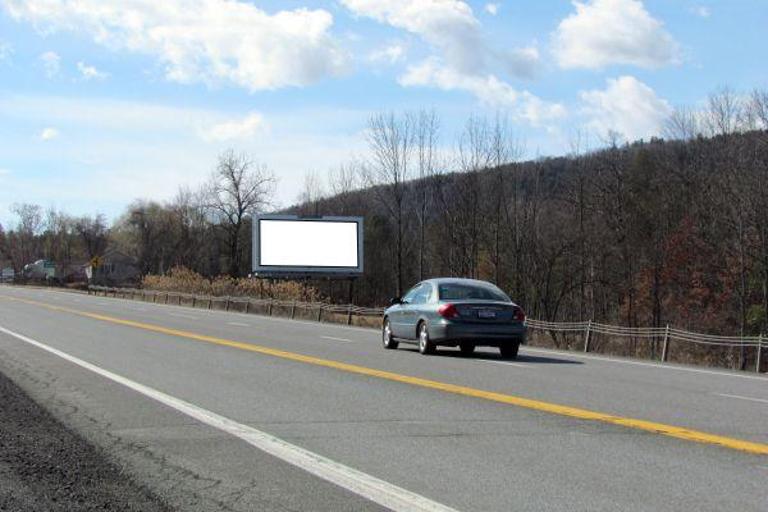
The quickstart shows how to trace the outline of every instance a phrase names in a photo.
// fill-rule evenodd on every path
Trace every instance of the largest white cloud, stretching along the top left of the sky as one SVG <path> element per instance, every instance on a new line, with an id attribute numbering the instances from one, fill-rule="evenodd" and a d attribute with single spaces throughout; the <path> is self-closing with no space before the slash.
<path id="1" fill-rule="evenodd" d="M 268 14 L 242 0 L 0 1 L 41 31 L 84 33 L 114 50 L 151 55 L 175 82 L 302 86 L 340 73 L 346 61 L 322 9 Z"/>

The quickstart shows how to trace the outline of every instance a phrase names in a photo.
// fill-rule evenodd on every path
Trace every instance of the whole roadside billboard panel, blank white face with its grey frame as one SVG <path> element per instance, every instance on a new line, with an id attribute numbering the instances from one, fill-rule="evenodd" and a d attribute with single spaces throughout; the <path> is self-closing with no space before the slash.
<path id="1" fill-rule="evenodd" d="M 252 261 L 256 275 L 362 274 L 363 218 L 257 216 Z"/>

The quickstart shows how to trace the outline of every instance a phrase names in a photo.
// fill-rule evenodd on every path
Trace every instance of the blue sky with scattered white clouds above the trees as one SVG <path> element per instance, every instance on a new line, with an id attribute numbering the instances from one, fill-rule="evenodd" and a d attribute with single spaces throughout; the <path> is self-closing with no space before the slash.
<path id="1" fill-rule="evenodd" d="M 286 206 L 365 156 L 379 112 L 434 109 L 445 148 L 501 113 L 529 158 L 647 139 L 768 87 L 766 28 L 766 0 L 0 0 L 0 223 L 21 202 L 114 219 L 229 148 Z"/>

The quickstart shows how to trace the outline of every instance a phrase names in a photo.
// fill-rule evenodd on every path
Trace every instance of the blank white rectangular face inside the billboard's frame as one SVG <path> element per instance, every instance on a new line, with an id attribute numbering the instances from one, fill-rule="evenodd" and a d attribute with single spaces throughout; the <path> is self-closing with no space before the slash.
<path id="1" fill-rule="evenodd" d="M 358 266 L 356 222 L 259 220 L 262 267 Z"/>

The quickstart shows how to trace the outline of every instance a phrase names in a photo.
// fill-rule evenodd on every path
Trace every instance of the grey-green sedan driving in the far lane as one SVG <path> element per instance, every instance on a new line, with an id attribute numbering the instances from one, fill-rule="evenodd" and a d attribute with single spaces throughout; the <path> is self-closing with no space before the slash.
<path id="1" fill-rule="evenodd" d="M 525 312 L 495 285 L 474 279 L 439 278 L 417 284 L 384 312 L 382 342 L 418 344 L 431 354 L 438 346 L 459 347 L 470 355 L 477 346 L 498 347 L 515 359 L 526 337 Z"/>

